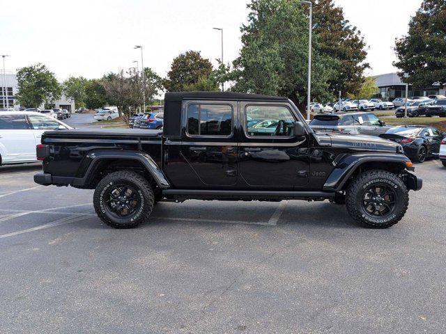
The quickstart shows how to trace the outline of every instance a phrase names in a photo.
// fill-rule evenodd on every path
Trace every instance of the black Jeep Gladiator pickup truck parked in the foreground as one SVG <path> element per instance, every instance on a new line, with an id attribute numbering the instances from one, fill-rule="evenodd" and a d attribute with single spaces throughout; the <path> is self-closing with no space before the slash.
<path id="1" fill-rule="evenodd" d="M 114 228 L 149 221 L 157 202 L 187 199 L 328 199 L 387 228 L 422 187 L 401 145 L 316 133 L 293 102 L 265 95 L 167 93 L 161 131 L 55 130 L 37 154 L 38 184 L 95 189 L 95 211 Z"/>

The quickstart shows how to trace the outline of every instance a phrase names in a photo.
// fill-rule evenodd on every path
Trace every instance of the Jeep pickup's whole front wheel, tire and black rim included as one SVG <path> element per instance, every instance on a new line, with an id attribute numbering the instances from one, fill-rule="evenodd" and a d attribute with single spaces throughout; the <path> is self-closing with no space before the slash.
<path id="1" fill-rule="evenodd" d="M 346 193 L 348 214 L 369 228 L 389 228 L 406 214 L 406 185 L 387 170 L 368 170 L 353 180 Z"/>

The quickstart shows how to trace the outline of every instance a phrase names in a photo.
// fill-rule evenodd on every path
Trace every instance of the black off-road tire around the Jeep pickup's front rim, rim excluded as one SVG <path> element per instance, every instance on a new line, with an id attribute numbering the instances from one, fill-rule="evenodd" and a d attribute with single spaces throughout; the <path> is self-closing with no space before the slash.
<path id="1" fill-rule="evenodd" d="M 394 210 L 387 216 L 378 219 L 363 209 L 362 196 L 369 186 L 383 183 L 391 186 L 397 196 L 395 196 Z M 406 185 L 397 175 L 387 172 L 387 170 L 368 170 L 357 175 L 346 191 L 348 214 L 367 228 L 389 228 L 398 223 L 406 214 L 408 204 L 409 195 Z"/>

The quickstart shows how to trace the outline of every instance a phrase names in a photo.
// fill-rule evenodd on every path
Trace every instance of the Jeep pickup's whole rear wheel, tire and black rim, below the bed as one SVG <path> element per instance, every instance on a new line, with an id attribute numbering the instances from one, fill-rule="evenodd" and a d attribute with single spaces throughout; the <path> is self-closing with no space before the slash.
<path id="1" fill-rule="evenodd" d="M 112 228 L 134 228 L 144 223 L 153 204 L 151 185 L 141 175 L 128 170 L 104 177 L 93 195 L 96 214 Z"/>

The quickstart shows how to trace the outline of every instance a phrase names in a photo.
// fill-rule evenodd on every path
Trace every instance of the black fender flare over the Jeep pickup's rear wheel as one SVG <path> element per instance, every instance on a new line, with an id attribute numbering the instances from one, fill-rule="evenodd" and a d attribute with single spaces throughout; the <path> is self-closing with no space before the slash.
<path id="1" fill-rule="evenodd" d="M 102 161 L 114 159 L 139 161 L 146 168 L 147 172 L 152 175 L 157 186 L 162 189 L 170 187 L 166 175 L 164 175 L 155 160 L 150 155 L 136 150 L 92 150 L 82 159 L 81 165 L 77 170 L 77 177 L 72 181 L 72 185 L 84 186 L 89 184 L 99 164 Z"/>

